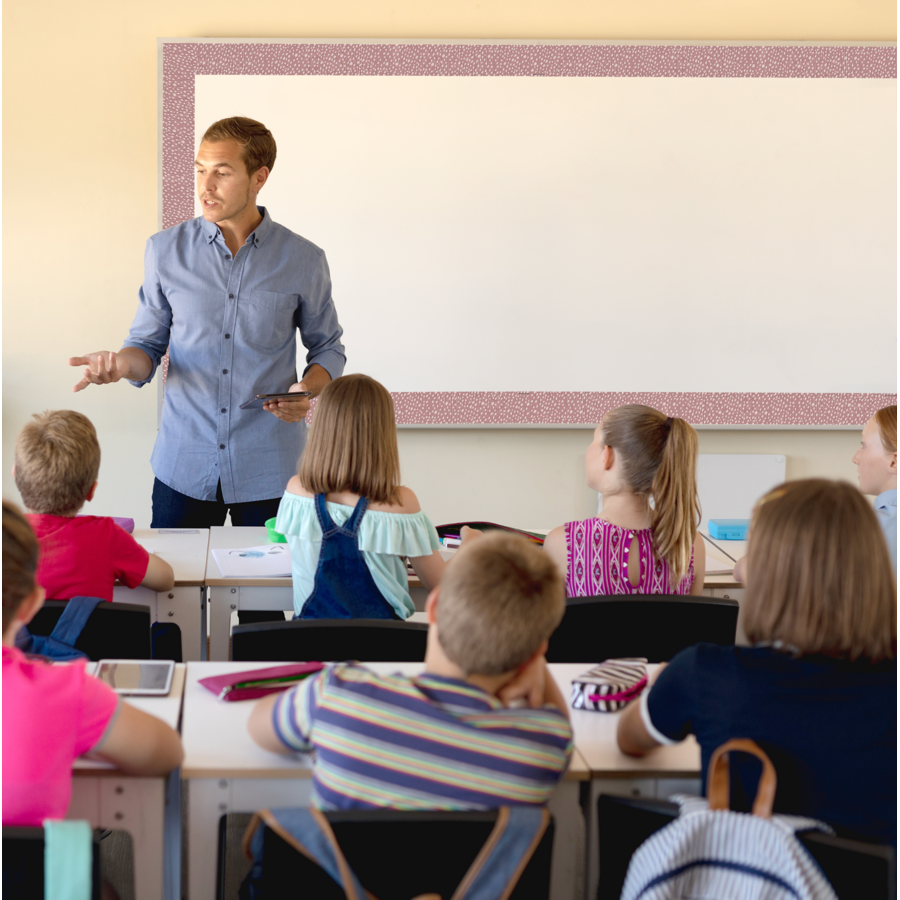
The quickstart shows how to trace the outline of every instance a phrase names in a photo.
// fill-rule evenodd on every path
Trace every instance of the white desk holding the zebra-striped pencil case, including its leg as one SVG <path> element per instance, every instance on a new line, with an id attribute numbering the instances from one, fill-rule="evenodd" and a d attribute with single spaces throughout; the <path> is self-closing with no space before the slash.
<path id="1" fill-rule="evenodd" d="M 596 663 L 554 663 L 553 677 L 564 697 L 571 693 L 572 679 Z M 656 666 L 648 666 L 652 672 Z M 587 872 L 585 897 L 597 896 L 599 845 L 597 797 L 658 797 L 675 793 L 700 794 L 700 746 L 693 736 L 671 747 L 660 747 L 645 757 L 626 756 L 616 742 L 620 712 L 571 710 L 575 746 L 591 772 L 589 808 L 586 810 Z"/>

